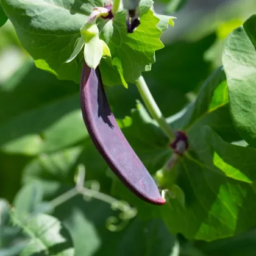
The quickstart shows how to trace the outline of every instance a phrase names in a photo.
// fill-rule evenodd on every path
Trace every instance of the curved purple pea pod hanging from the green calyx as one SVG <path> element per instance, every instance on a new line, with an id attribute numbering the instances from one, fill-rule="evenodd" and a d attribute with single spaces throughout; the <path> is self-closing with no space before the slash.
<path id="1" fill-rule="evenodd" d="M 80 104 L 91 140 L 110 169 L 144 201 L 165 204 L 151 175 L 116 123 L 99 68 L 89 68 L 85 62 L 80 82 Z"/>

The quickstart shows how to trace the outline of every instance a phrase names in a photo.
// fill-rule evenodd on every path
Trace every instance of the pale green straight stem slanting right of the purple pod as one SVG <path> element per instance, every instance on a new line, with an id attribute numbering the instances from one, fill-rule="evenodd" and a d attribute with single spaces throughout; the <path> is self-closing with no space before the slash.
<path id="1" fill-rule="evenodd" d="M 140 92 L 141 98 L 143 99 L 149 113 L 152 118 L 157 121 L 160 128 L 166 133 L 166 135 L 172 140 L 175 138 L 175 132 L 166 122 L 165 117 L 162 115 L 157 103 L 155 102 L 151 92 L 149 91 L 148 85 L 146 84 L 143 76 L 140 76 L 137 82 L 138 91 Z"/>

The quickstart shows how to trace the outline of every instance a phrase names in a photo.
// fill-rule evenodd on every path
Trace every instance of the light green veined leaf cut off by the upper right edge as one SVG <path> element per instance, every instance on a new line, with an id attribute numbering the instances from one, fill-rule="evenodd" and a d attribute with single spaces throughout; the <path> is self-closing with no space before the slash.
<path id="1" fill-rule="evenodd" d="M 222 62 L 227 75 L 230 114 L 241 137 L 256 146 L 256 15 L 225 41 Z"/>

